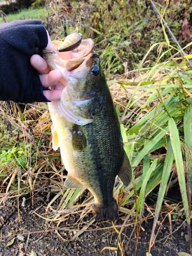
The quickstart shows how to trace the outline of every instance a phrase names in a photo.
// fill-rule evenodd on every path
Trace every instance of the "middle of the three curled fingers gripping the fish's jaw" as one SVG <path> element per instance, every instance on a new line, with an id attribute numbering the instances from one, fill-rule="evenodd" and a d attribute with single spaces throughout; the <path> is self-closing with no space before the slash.
<path id="1" fill-rule="evenodd" d="M 62 73 L 60 70 L 52 70 L 48 75 L 40 75 L 40 81 L 42 83 L 42 86 L 44 87 L 50 87 L 54 86 L 58 80 L 61 78 Z"/>

